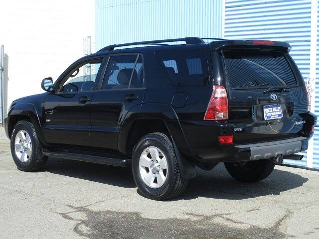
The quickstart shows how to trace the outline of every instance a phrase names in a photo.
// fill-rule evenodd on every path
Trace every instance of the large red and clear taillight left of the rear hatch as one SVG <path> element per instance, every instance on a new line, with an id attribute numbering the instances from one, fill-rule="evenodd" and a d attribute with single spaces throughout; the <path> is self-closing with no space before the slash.
<path id="1" fill-rule="evenodd" d="M 214 85 L 205 120 L 228 119 L 228 99 L 227 92 L 223 86 Z"/>

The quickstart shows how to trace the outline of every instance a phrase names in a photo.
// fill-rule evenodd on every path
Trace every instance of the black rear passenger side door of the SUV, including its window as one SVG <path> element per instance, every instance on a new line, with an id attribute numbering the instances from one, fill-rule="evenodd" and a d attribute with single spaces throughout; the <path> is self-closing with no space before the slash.
<path id="1" fill-rule="evenodd" d="M 122 124 L 128 114 L 139 116 L 144 93 L 142 55 L 111 55 L 91 103 L 93 146 L 118 150 Z"/>

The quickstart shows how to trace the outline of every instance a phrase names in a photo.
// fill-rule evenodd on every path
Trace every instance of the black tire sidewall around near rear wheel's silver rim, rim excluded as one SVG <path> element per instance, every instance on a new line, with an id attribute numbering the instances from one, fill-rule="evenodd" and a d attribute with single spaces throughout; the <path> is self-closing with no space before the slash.
<path id="1" fill-rule="evenodd" d="M 168 165 L 166 180 L 160 188 L 151 188 L 150 186 L 148 186 L 143 181 L 140 173 L 140 156 L 142 152 L 150 146 L 155 146 L 164 153 Z M 152 195 L 152 197 L 156 198 L 160 198 L 162 195 L 166 194 L 167 191 L 170 191 L 171 187 L 173 187 L 175 160 L 176 158 L 174 152 L 170 151 L 163 140 L 153 137 L 142 138 L 135 147 L 132 160 L 133 177 L 139 190 L 146 196 Z"/>

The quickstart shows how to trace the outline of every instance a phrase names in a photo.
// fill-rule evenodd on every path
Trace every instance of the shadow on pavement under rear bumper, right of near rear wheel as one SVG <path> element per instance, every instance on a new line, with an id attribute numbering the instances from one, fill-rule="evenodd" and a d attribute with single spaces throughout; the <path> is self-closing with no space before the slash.
<path id="1" fill-rule="evenodd" d="M 233 179 L 222 163 L 210 171 L 196 168 L 197 177 L 190 180 L 181 197 L 175 200 L 189 200 L 197 197 L 242 200 L 282 192 L 303 186 L 309 179 L 300 174 L 274 169 L 264 180 L 243 183 Z M 174 200 L 174 199 L 172 199 Z"/>

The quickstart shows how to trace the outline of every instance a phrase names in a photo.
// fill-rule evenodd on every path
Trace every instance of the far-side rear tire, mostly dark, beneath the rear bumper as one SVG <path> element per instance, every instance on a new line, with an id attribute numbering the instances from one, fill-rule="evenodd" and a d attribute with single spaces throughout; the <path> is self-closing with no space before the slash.
<path id="1" fill-rule="evenodd" d="M 263 159 L 242 163 L 225 163 L 228 173 L 238 181 L 251 183 L 267 178 L 274 170 L 275 164 Z"/>

